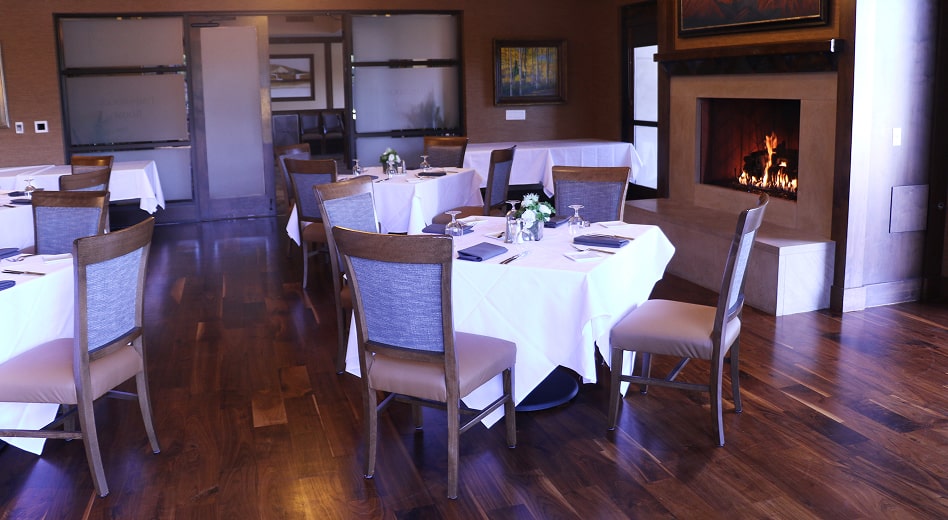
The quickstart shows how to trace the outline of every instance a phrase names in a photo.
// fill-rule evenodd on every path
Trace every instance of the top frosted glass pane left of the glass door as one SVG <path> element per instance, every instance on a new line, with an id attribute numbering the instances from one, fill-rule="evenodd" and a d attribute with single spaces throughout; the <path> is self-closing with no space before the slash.
<path id="1" fill-rule="evenodd" d="M 64 18 L 66 68 L 184 65 L 184 22 L 180 17 Z"/>

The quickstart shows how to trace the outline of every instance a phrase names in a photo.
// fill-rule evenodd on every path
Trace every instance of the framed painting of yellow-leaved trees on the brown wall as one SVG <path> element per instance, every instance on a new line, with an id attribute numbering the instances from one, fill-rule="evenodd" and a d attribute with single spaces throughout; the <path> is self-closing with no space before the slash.
<path id="1" fill-rule="evenodd" d="M 565 40 L 494 40 L 495 105 L 565 102 Z"/>

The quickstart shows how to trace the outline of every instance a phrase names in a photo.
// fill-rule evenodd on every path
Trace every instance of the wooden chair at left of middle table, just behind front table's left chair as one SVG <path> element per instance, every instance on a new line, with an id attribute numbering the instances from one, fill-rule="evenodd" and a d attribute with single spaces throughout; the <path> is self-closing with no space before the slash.
<path id="1" fill-rule="evenodd" d="M 326 229 L 322 225 L 322 214 L 313 186 L 336 182 L 336 161 L 332 159 L 299 159 L 284 156 L 287 175 L 293 187 L 296 209 L 299 214 L 300 246 L 303 250 L 303 288 L 309 279 L 309 259 L 326 251 Z M 310 225 L 316 224 L 316 225 Z"/>

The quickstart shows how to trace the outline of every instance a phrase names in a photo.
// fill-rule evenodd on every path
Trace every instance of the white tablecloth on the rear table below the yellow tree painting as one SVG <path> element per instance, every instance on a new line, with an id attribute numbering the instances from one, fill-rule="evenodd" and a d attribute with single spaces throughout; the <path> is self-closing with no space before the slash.
<path id="1" fill-rule="evenodd" d="M 520 141 L 506 143 L 470 143 L 464 153 L 464 167 L 473 168 L 487 185 L 490 153 L 517 145 L 510 171 L 510 184 L 542 184 L 547 196 L 553 196 L 553 166 L 628 166 L 629 182 L 644 167 L 631 143 L 595 139 L 556 141 Z"/>

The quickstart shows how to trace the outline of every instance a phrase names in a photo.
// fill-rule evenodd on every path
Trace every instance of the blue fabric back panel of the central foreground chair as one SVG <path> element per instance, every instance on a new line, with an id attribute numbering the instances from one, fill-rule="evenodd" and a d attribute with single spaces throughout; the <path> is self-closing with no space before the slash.
<path id="1" fill-rule="evenodd" d="M 444 352 L 441 265 L 351 257 L 371 342 Z"/>

